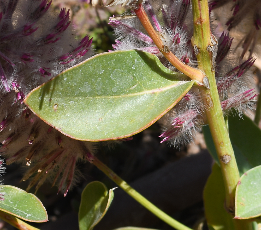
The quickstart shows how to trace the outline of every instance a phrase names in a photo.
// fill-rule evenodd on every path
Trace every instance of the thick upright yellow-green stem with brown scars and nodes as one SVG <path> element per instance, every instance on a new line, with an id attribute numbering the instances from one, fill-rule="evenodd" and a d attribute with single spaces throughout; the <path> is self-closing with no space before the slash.
<path id="1" fill-rule="evenodd" d="M 227 211 L 234 215 L 235 189 L 240 177 L 217 91 L 215 79 L 217 40 L 211 33 L 207 0 L 192 0 L 192 9 L 194 33 L 191 42 L 198 59 L 198 67 L 207 76 L 203 79 L 204 85 L 209 85 L 208 89 L 202 90 L 207 105 L 206 116 L 225 184 L 225 206 Z"/>

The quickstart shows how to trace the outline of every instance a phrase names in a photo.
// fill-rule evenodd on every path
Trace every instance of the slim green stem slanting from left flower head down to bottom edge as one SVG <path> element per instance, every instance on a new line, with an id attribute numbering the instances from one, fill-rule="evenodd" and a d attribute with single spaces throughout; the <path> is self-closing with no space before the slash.
<path id="1" fill-rule="evenodd" d="M 93 164 L 104 172 L 112 181 L 114 181 L 120 188 L 122 188 L 126 193 L 143 205 L 146 209 L 156 215 L 159 219 L 163 220 L 165 223 L 170 225 L 177 230 L 192 230 L 191 228 L 183 225 L 182 223 L 174 220 L 169 215 L 164 213 L 162 210 L 153 205 L 145 197 L 140 195 L 136 190 L 129 186 L 125 181 L 123 181 L 117 174 L 115 174 L 110 168 L 103 164 L 99 159 L 94 157 Z"/>

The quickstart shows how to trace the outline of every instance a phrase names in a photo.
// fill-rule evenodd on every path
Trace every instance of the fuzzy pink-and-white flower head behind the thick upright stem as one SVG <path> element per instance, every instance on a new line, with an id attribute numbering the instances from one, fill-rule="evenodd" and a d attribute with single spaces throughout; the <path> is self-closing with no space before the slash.
<path id="1" fill-rule="evenodd" d="M 161 4 L 145 0 L 143 8 L 169 50 L 183 63 L 196 68 L 197 59 L 191 46 L 193 20 L 190 0 L 164 1 Z M 153 53 L 166 67 L 177 71 L 156 47 L 134 13 L 111 17 L 110 24 L 116 35 L 115 50 L 139 49 Z M 253 108 L 257 95 L 247 88 L 246 83 L 254 60 L 249 58 L 241 61 L 236 57 L 230 51 L 232 40 L 226 33 L 218 38 L 216 81 L 224 112 L 235 108 L 241 114 L 247 108 Z M 180 146 L 193 140 L 193 134 L 204 125 L 205 109 L 198 89 L 192 88 L 160 120 L 163 130 L 161 142 L 168 141 L 170 145 Z"/>

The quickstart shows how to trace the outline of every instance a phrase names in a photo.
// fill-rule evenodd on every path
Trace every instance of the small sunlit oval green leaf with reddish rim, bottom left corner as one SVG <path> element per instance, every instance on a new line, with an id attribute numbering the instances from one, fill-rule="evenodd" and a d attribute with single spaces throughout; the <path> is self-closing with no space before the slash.
<path id="1" fill-rule="evenodd" d="M 41 201 L 32 193 L 11 185 L 2 185 L 4 200 L 0 201 L 0 210 L 30 222 L 48 221 L 47 212 Z"/>

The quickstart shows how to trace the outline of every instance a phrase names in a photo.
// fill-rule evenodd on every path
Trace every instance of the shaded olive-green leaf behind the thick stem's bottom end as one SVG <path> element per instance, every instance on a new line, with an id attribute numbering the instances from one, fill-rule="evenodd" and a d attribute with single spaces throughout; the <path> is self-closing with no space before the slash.
<path id="1" fill-rule="evenodd" d="M 203 192 L 205 216 L 215 230 L 233 230 L 232 217 L 224 209 L 225 187 L 220 167 L 214 164 Z"/>

